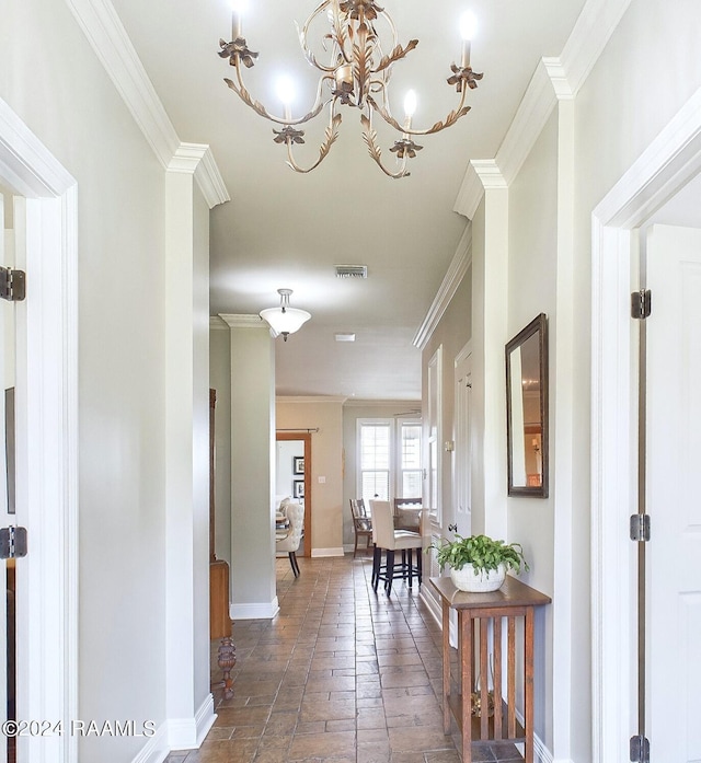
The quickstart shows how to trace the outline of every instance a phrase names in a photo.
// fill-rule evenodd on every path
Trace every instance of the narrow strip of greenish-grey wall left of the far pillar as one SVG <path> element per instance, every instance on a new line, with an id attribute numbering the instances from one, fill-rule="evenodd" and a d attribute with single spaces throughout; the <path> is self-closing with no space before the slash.
<path id="1" fill-rule="evenodd" d="M 231 567 L 231 339 L 228 326 L 209 331 L 209 385 L 215 407 L 215 556 Z"/>

